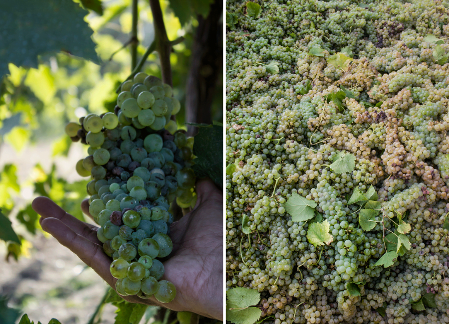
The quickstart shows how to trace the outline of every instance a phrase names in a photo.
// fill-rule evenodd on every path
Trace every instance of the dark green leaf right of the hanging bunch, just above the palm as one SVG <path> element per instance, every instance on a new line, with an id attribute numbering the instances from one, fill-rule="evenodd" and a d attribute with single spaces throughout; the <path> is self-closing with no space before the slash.
<path id="1" fill-rule="evenodd" d="M 197 156 L 192 168 L 202 178 L 209 176 L 223 187 L 223 127 L 200 127 L 195 136 L 193 154 Z"/>

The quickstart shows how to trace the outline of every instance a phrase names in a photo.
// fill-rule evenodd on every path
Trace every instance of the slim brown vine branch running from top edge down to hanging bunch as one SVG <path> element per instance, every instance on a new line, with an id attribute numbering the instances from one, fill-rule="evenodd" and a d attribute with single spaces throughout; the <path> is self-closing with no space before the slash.
<path id="1" fill-rule="evenodd" d="M 151 12 L 153 13 L 154 30 L 156 34 L 156 50 L 159 53 L 161 61 L 162 81 L 173 86 L 172 83 L 172 67 L 170 65 L 170 52 L 172 43 L 168 39 L 165 30 L 164 17 L 162 15 L 161 4 L 159 0 L 149 0 Z"/>

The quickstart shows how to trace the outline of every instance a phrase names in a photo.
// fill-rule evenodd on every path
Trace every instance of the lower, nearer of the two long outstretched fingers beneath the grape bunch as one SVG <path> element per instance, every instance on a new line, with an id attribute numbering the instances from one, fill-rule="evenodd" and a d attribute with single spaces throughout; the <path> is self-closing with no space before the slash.
<path id="1" fill-rule="evenodd" d="M 109 266 L 111 259 L 103 252 L 103 247 L 95 244 L 72 231 L 66 224 L 57 218 L 45 218 L 41 222 L 42 229 L 50 233 L 60 244 L 75 253 L 78 258 L 91 267 L 110 286 L 115 288 Z"/>

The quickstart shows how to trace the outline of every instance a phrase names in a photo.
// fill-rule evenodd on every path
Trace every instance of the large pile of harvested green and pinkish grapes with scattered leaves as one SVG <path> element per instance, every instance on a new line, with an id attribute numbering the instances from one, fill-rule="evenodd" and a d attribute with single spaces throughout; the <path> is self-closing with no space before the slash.
<path id="1" fill-rule="evenodd" d="M 449 323 L 449 1 L 256 2 L 226 1 L 227 289 Z"/>

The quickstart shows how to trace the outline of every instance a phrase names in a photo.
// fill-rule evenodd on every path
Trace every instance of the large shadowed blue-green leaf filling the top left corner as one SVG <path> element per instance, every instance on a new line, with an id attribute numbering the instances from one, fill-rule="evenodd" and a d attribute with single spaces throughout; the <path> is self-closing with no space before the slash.
<path id="1" fill-rule="evenodd" d="M 8 63 L 37 67 L 37 56 L 44 53 L 64 51 L 98 62 L 93 31 L 84 21 L 87 13 L 73 1 L 2 1 L 0 78 L 8 73 Z"/>

